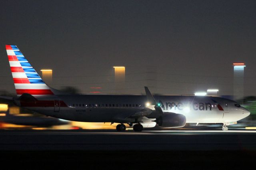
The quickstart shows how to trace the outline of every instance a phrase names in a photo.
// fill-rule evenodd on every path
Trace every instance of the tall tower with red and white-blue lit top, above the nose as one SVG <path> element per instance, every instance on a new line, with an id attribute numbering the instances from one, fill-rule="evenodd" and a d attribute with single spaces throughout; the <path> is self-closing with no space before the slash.
<path id="1" fill-rule="evenodd" d="M 234 100 L 244 98 L 244 63 L 233 63 L 234 66 Z M 243 104 L 243 103 L 241 103 Z"/>

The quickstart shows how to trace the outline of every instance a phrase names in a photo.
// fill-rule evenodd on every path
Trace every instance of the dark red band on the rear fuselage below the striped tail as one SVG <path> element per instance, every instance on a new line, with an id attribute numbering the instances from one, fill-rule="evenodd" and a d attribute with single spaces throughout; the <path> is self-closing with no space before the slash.
<path id="1" fill-rule="evenodd" d="M 27 101 L 20 101 L 21 107 L 54 107 L 54 101 L 33 101 L 33 102 L 27 102 Z M 64 101 L 60 101 L 60 107 L 68 107 Z"/>

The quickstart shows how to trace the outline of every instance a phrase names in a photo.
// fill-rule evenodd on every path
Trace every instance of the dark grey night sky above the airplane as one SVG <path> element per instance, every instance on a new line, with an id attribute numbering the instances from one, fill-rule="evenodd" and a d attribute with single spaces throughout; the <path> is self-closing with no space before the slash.
<path id="1" fill-rule="evenodd" d="M 2 0 L 0 89 L 14 93 L 5 51 L 14 44 L 38 72 L 54 70 L 57 89 L 114 93 L 112 66 L 124 65 L 119 93 L 153 85 L 154 93 L 232 95 L 232 63 L 245 62 L 245 95 L 256 95 L 255 9 L 255 0 Z"/>

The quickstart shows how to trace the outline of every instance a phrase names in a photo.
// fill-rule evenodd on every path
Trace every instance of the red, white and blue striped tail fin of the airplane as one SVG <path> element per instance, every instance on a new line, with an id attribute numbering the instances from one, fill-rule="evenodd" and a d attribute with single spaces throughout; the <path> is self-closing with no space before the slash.
<path id="1" fill-rule="evenodd" d="M 34 97 L 54 95 L 16 45 L 6 45 L 6 51 L 17 96 L 23 93 Z"/>

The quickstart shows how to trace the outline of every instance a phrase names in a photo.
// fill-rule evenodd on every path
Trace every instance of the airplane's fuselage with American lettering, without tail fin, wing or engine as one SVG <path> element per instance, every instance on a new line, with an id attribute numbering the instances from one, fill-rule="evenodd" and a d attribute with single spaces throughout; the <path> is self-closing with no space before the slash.
<path id="1" fill-rule="evenodd" d="M 179 113 L 186 123 L 228 123 L 247 117 L 250 112 L 235 101 L 220 97 L 154 96 L 164 113 Z M 38 98 L 47 104 L 22 103 L 38 113 L 81 122 L 130 123 L 135 113 L 147 109 L 144 95 L 54 95 Z M 54 104 L 53 104 L 54 103 Z"/>

